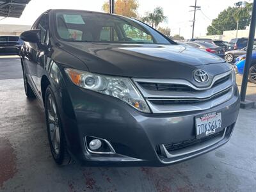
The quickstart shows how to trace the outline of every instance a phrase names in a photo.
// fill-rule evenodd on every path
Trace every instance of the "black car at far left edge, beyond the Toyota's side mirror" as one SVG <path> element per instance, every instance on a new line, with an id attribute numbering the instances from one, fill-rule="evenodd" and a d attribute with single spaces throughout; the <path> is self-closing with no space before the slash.
<path id="1" fill-rule="evenodd" d="M 0 54 L 19 54 L 22 45 L 19 36 L 0 36 Z"/>

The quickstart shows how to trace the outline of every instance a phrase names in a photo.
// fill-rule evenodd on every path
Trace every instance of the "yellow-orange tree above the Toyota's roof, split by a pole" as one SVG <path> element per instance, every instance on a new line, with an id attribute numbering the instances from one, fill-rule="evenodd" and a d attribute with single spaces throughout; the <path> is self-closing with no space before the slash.
<path id="1" fill-rule="evenodd" d="M 137 0 L 116 0 L 115 1 L 115 14 L 124 15 L 126 17 L 138 17 L 138 1 Z M 102 10 L 109 13 L 109 1 L 102 5 Z"/>

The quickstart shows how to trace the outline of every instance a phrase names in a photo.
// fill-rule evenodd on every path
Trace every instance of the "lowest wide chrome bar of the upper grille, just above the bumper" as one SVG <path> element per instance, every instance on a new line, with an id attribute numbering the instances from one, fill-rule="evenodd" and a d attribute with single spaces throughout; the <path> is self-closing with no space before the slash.
<path id="1" fill-rule="evenodd" d="M 178 113 L 185 111 L 202 111 L 217 106 L 229 99 L 234 95 L 234 86 L 230 88 L 230 91 L 221 97 L 214 100 L 208 100 L 202 103 L 195 104 L 179 104 L 179 105 L 156 105 L 150 102 L 150 99 L 146 99 L 148 106 L 153 113 Z"/>

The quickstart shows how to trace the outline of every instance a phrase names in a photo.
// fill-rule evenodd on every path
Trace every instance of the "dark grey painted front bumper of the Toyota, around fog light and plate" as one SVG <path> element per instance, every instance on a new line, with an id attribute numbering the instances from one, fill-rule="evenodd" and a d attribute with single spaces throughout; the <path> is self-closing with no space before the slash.
<path id="1" fill-rule="evenodd" d="M 90 166 L 164 166 L 178 163 L 227 143 L 239 112 L 239 93 L 227 102 L 204 111 L 145 114 L 124 102 L 74 85 L 61 90 L 61 121 L 67 147 L 74 159 Z M 72 111 L 72 112 L 70 112 Z M 184 148 L 186 153 L 166 157 L 159 146 L 195 139 L 195 116 L 221 111 L 221 140 L 204 141 Z M 85 136 L 108 140 L 116 154 L 91 154 L 86 149 Z"/>

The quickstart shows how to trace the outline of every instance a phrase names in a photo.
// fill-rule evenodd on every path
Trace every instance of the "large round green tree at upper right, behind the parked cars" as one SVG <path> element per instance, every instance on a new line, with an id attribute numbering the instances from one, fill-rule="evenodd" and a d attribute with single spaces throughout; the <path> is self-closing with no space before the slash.
<path id="1" fill-rule="evenodd" d="M 247 4 L 245 8 L 228 7 L 212 20 L 207 28 L 207 35 L 222 35 L 223 31 L 235 30 L 237 19 L 239 19 L 238 29 L 245 29 L 250 24 L 251 11 L 252 4 Z"/>

